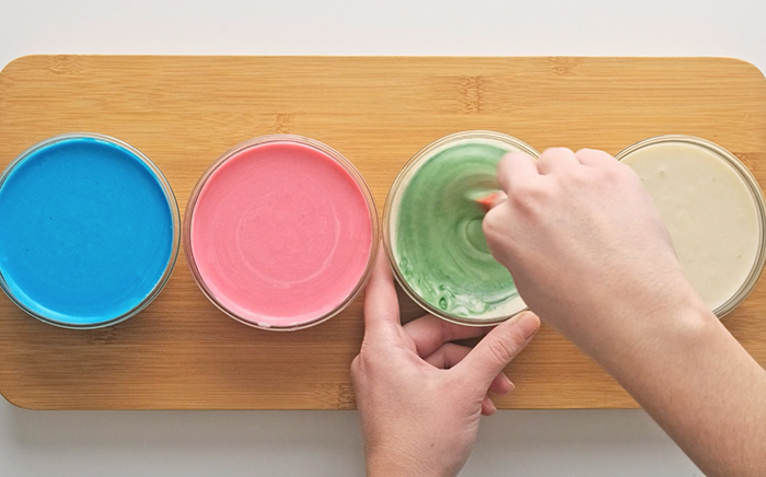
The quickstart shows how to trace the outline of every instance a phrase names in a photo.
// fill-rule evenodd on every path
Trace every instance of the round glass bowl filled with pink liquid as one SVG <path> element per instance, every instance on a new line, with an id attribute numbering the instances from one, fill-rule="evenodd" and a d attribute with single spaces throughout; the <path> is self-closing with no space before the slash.
<path id="1" fill-rule="evenodd" d="M 370 212 L 353 177 L 322 151 L 257 144 L 222 163 L 195 205 L 202 281 L 234 315 L 294 326 L 336 309 L 362 278 Z"/>

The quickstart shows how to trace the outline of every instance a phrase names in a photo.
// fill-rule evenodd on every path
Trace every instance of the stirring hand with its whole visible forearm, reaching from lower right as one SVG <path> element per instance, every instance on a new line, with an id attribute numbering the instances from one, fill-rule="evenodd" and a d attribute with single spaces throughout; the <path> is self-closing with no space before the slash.
<path id="1" fill-rule="evenodd" d="M 766 475 L 766 373 L 683 275 L 659 212 L 605 152 L 498 166 L 484 220 L 521 296 L 608 371 L 706 475 Z"/>

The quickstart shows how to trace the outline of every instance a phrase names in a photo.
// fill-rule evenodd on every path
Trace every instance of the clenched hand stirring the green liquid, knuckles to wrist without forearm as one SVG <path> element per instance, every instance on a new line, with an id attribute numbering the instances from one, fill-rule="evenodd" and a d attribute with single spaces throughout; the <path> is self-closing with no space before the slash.
<path id="1" fill-rule="evenodd" d="M 610 154 L 510 153 L 498 182 L 508 197 L 485 217 L 489 248 L 530 309 L 576 344 L 597 346 L 593 327 L 613 317 L 705 309 L 641 181 Z"/>

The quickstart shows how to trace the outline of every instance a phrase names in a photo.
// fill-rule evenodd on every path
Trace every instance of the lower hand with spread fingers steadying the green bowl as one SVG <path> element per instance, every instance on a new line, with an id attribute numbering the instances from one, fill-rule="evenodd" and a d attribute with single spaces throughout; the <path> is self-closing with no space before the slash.
<path id="1" fill-rule="evenodd" d="M 522 313 L 491 329 L 473 350 L 451 341 L 481 336 L 487 328 L 431 315 L 402 326 L 383 255 L 365 293 L 364 340 L 351 377 L 368 475 L 456 475 L 476 441 L 480 416 L 496 410 L 488 393 L 513 389 L 502 370 L 530 342 L 539 319 Z"/>

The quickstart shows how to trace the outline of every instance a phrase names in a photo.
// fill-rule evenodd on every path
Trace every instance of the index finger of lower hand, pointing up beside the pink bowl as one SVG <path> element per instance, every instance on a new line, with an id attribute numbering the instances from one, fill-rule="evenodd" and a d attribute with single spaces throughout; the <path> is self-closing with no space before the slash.
<path id="1" fill-rule="evenodd" d="M 395 326 L 399 326 L 399 301 L 394 288 L 394 276 L 385 252 L 381 249 L 364 290 L 364 333 L 385 331 Z"/>

